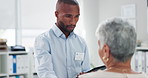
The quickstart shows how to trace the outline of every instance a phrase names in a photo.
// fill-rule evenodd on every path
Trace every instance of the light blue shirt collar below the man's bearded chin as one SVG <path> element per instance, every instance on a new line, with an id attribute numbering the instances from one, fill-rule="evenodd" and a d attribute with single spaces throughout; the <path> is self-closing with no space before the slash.
<path id="1" fill-rule="evenodd" d="M 53 25 L 52 30 L 57 37 L 61 37 L 64 39 L 66 38 L 65 34 L 58 28 L 58 26 L 56 26 L 56 24 Z M 76 37 L 76 34 L 74 32 L 71 32 L 68 37 Z"/>

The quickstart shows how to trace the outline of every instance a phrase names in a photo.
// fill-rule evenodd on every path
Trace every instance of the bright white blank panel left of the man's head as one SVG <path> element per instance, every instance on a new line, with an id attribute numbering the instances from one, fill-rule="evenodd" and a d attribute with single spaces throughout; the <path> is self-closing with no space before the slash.
<path id="1" fill-rule="evenodd" d="M 57 0 L 21 0 L 23 29 L 49 29 L 56 21 Z"/>

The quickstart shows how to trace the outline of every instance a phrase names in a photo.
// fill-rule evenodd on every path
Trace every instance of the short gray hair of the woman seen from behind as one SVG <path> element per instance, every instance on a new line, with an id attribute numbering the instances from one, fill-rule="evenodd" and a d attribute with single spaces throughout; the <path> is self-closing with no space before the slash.
<path id="1" fill-rule="evenodd" d="M 132 25 L 125 19 L 115 17 L 99 24 L 96 36 L 101 48 L 107 44 L 116 61 L 125 62 L 130 59 L 136 47 L 137 34 Z"/>

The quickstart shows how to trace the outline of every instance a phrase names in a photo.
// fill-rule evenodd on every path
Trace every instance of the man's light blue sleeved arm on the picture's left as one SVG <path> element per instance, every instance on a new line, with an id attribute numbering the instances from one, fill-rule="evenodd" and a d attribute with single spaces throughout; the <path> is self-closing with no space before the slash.
<path id="1" fill-rule="evenodd" d="M 39 78 L 57 78 L 53 70 L 48 40 L 42 36 L 37 37 L 34 48 L 35 68 Z"/>

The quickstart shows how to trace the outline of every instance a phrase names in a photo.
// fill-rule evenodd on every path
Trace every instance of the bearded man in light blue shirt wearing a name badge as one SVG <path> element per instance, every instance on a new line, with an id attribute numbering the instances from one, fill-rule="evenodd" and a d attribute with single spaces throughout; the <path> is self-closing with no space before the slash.
<path id="1" fill-rule="evenodd" d="M 85 41 L 73 32 L 79 20 L 75 0 L 58 0 L 53 27 L 35 40 L 35 65 L 39 78 L 76 78 L 90 69 Z"/>

